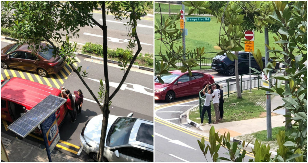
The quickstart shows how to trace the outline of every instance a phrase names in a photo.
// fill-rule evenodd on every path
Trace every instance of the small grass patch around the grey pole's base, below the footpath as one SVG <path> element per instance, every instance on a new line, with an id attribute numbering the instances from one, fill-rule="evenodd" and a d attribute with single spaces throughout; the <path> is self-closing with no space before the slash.
<path id="1" fill-rule="evenodd" d="M 258 132 L 252 133 L 251 135 L 256 137 L 256 139 L 258 141 L 274 141 L 274 140 L 277 140 L 276 134 L 278 134 L 279 130 L 281 130 L 281 131 L 285 130 L 285 126 L 272 128 L 272 139 L 267 139 L 267 131 L 266 130 L 258 131 Z M 286 130 L 285 135 L 287 137 L 290 137 L 290 135 L 292 134 L 292 130 L 293 129 Z"/>

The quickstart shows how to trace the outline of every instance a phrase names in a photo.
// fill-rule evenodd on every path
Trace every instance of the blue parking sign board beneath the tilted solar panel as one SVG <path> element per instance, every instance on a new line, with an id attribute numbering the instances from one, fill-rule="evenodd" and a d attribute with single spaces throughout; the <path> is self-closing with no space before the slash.
<path id="1" fill-rule="evenodd" d="M 46 152 L 49 162 L 51 162 L 51 152 L 60 140 L 59 128 L 55 113 L 51 114 L 43 123 L 41 123 L 42 134 L 46 146 Z"/>

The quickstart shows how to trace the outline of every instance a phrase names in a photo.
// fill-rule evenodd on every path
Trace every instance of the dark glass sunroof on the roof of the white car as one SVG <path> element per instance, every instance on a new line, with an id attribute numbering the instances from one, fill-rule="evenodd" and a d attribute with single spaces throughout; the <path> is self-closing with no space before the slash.
<path id="1" fill-rule="evenodd" d="M 141 123 L 137 133 L 136 141 L 153 145 L 153 125 Z"/>

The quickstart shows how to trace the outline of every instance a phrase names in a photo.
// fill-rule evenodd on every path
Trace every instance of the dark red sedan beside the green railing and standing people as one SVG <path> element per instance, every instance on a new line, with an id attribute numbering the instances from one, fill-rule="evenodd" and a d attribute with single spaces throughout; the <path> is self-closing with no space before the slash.
<path id="1" fill-rule="evenodd" d="M 179 70 L 169 71 L 171 75 L 163 75 L 160 78 L 164 81 L 161 84 L 155 79 L 155 100 L 166 100 L 172 102 L 175 97 L 198 94 L 207 84 L 214 83 L 214 77 L 197 71 L 192 71 L 189 78 L 188 71 L 182 73 Z"/>

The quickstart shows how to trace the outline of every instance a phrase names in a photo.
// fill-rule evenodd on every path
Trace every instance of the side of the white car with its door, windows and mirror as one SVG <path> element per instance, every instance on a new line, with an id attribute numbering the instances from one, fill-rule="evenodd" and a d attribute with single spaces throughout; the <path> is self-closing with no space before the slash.
<path id="1" fill-rule="evenodd" d="M 141 149 L 135 146 L 126 146 L 114 148 L 110 150 L 110 157 L 108 161 L 112 162 L 153 162 L 153 152 Z M 115 152 L 119 152 L 119 158 L 116 157 Z"/>

